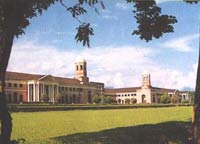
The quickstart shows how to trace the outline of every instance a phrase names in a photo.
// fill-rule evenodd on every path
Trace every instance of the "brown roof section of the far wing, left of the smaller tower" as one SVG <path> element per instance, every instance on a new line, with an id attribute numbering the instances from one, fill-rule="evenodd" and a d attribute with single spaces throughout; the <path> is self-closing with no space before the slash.
<path id="1" fill-rule="evenodd" d="M 105 89 L 105 93 L 126 93 L 126 92 L 136 92 L 137 89 L 141 87 L 128 87 L 128 88 L 115 88 L 115 89 Z"/>

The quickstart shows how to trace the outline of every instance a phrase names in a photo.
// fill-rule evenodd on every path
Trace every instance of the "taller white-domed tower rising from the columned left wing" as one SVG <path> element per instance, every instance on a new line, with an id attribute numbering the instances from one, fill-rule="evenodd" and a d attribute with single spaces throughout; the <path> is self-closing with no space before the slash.
<path id="1" fill-rule="evenodd" d="M 75 62 L 76 66 L 76 79 L 83 83 L 88 83 L 89 78 L 87 77 L 87 62 L 84 58 L 78 57 Z"/>

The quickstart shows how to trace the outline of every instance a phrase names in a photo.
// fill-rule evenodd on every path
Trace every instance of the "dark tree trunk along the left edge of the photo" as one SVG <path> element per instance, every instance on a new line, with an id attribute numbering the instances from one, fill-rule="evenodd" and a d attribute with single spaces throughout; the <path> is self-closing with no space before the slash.
<path id="1" fill-rule="evenodd" d="M 12 132 L 12 118 L 8 111 L 5 93 L 5 74 L 10 58 L 14 34 L 3 32 L 0 35 L 0 144 L 10 144 Z"/>

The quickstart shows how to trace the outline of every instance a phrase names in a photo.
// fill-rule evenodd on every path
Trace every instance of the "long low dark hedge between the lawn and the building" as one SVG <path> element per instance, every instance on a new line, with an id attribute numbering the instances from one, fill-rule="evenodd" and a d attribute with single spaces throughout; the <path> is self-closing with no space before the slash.
<path id="1" fill-rule="evenodd" d="M 67 111 L 67 110 L 105 110 L 105 109 L 131 109 L 131 108 L 162 108 L 175 106 L 191 106 L 189 104 L 136 104 L 136 105 L 9 105 L 11 112 L 41 112 L 41 111 Z"/>

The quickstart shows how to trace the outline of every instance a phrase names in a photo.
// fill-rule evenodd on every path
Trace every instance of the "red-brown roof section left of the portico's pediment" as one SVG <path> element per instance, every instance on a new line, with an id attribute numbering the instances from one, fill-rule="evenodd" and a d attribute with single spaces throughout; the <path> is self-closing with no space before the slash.
<path id="1" fill-rule="evenodd" d="M 37 80 L 44 75 L 27 74 L 19 72 L 6 72 L 6 80 Z"/>

